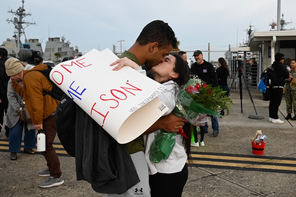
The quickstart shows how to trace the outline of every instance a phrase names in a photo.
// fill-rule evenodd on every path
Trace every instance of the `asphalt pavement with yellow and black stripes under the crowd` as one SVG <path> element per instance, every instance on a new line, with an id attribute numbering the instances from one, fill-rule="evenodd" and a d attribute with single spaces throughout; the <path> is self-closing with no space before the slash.
<path id="1" fill-rule="evenodd" d="M 296 196 L 296 121 L 284 120 L 287 115 L 284 97 L 279 108 L 279 117 L 284 123 L 274 124 L 268 121 L 269 102 L 263 101 L 262 93 L 252 90 L 251 96 L 254 105 L 246 90 L 242 91 L 242 100 L 239 91 L 231 91 L 234 105 L 228 116 L 225 113 L 218 118 L 218 136 L 210 137 L 212 129 L 209 128 L 204 138 L 205 146 L 192 147 L 194 164 L 189 166 L 189 177 L 182 196 Z M 265 118 L 248 118 L 256 113 Z M 252 154 L 251 139 L 256 130 L 261 130 L 268 137 L 263 155 Z M 39 188 L 37 183 L 46 179 L 37 175 L 37 171 L 46 168 L 44 157 L 21 151 L 17 154 L 18 159 L 11 161 L 4 133 L 2 129 L 0 196 L 104 196 L 92 190 L 86 181 L 76 181 L 75 158 L 65 154 L 57 137 L 54 147 L 65 183 Z"/>

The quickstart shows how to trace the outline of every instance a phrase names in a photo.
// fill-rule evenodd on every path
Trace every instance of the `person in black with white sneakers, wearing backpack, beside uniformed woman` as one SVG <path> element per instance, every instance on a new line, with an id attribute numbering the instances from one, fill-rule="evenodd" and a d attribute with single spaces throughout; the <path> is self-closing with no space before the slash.
<path id="1" fill-rule="evenodd" d="M 278 111 L 281 105 L 281 99 L 283 97 L 283 88 L 286 81 L 291 81 L 292 77 L 284 63 L 284 54 L 277 53 L 274 56 L 274 63 L 271 67 L 274 68 L 276 77 L 271 78 L 271 84 L 269 87 L 270 91 L 270 101 L 269 101 L 269 122 L 272 123 L 284 123 L 284 121 L 279 119 Z"/>

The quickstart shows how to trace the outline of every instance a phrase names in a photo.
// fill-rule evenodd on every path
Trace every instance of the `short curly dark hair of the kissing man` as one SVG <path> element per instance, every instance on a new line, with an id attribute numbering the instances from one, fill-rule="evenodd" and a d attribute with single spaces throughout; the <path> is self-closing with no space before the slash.
<path id="1" fill-rule="evenodd" d="M 177 46 L 177 38 L 175 37 L 174 31 L 168 23 L 165 23 L 162 20 L 155 20 L 148 23 L 141 31 L 136 42 L 141 46 L 157 42 L 160 49 L 169 46 L 170 44 L 173 45 L 173 47 Z"/>

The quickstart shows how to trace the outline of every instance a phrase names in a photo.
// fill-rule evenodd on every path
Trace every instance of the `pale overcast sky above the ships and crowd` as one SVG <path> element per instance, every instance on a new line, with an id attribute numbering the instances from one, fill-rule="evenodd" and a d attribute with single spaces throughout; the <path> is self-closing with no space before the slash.
<path id="1" fill-rule="evenodd" d="M 14 15 L 7 11 L 20 6 L 21 0 L 1 0 L 0 41 L 12 38 L 14 25 L 6 20 Z M 277 20 L 277 0 L 25 0 L 24 8 L 32 14 L 24 20 L 37 24 L 25 28 L 28 39 L 44 38 L 45 50 L 49 37 L 65 36 L 83 54 L 94 48 L 112 50 L 113 45 L 120 51 L 120 40 L 122 50 L 128 49 L 153 20 L 170 25 L 183 51 L 205 50 L 208 43 L 217 50 L 237 46 L 246 41 L 250 23 L 252 29 L 269 31 L 268 23 Z M 285 28 L 296 28 L 296 1 L 281 0 L 281 13 L 286 22 L 293 22 Z"/>

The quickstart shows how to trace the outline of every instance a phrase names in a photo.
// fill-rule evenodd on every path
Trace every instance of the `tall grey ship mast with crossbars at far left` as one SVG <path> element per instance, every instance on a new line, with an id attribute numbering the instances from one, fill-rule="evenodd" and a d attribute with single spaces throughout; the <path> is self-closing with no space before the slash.
<path id="1" fill-rule="evenodd" d="M 10 11 L 7 11 L 7 12 L 9 12 L 9 13 L 12 13 L 12 14 L 14 14 L 16 17 L 14 17 L 14 20 L 12 20 L 12 19 L 7 19 L 6 21 L 8 22 L 8 23 L 10 23 L 10 22 L 12 22 L 14 25 L 15 25 L 15 34 L 17 34 L 17 35 L 14 35 L 14 37 L 16 37 L 16 40 L 17 40 L 17 50 L 20 50 L 20 36 L 22 35 L 22 34 L 24 34 L 25 35 L 25 31 L 24 31 L 24 29 L 26 28 L 26 27 L 28 27 L 29 25 L 36 25 L 36 23 L 35 22 L 25 22 L 24 20 L 23 20 L 23 18 L 24 17 L 26 17 L 26 16 L 31 16 L 31 14 L 30 13 L 28 13 L 28 14 L 26 14 L 25 13 L 25 9 L 24 9 L 24 0 L 22 0 L 22 7 L 19 7 L 19 9 L 17 9 L 17 11 L 15 11 L 15 12 L 13 12 L 12 11 L 12 9 L 10 10 Z M 26 24 L 27 26 L 26 27 L 22 27 L 22 24 Z M 26 38 L 26 35 L 25 35 L 25 39 L 27 40 L 27 38 Z"/>

